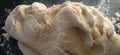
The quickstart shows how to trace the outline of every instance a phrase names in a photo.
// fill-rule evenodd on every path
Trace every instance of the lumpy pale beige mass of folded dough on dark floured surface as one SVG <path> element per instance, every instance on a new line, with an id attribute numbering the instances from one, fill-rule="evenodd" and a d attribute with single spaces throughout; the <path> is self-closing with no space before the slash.
<path id="1" fill-rule="evenodd" d="M 114 29 L 97 9 L 78 2 L 19 5 L 5 22 L 24 55 L 120 55 Z"/>

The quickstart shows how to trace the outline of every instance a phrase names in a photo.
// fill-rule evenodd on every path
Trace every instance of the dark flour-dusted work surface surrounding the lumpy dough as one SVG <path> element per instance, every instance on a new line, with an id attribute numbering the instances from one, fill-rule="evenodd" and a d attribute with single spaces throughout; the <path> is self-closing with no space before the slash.
<path id="1" fill-rule="evenodd" d="M 17 46 L 17 41 L 12 37 L 6 38 L 3 27 L 9 13 L 20 4 L 31 4 L 42 2 L 48 7 L 53 4 L 61 4 L 65 1 L 83 2 L 89 6 L 98 8 L 105 16 L 113 22 L 116 33 L 120 34 L 120 17 L 116 12 L 120 12 L 120 0 L 0 0 L 0 55 L 23 55 Z"/>

